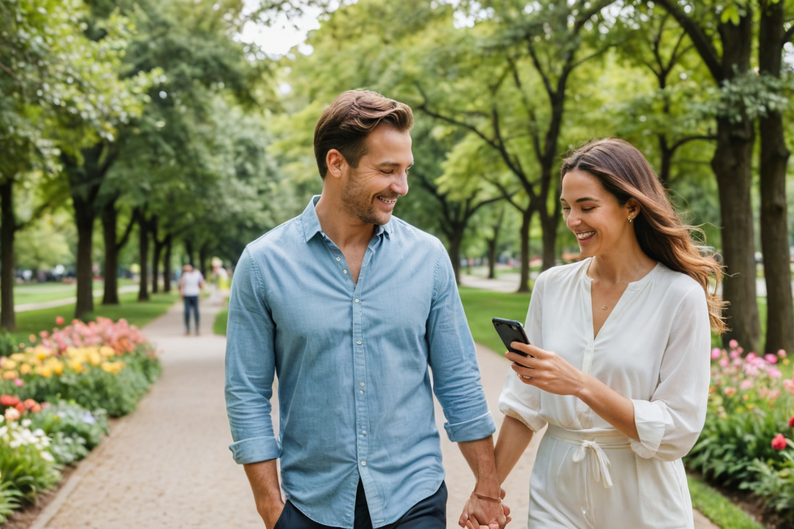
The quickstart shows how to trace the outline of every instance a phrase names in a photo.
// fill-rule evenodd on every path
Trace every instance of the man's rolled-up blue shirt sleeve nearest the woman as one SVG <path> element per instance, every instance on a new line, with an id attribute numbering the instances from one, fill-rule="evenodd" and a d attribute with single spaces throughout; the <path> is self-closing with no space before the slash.
<path id="1" fill-rule="evenodd" d="M 432 305 L 427 321 L 433 391 L 444 410 L 444 429 L 454 443 L 484 439 L 496 431 L 480 381 L 471 337 L 455 273 L 438 243 Z"/>

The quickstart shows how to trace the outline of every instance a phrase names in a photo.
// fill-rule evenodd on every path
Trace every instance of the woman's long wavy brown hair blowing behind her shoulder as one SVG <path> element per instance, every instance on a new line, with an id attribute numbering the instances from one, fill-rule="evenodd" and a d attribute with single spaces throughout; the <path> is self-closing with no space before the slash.
<path id="1" fill-rule="evenodd" d="M 716 294 L 717 285 L 722 281 L 722 267 L 713 257 L 702 255 L 695 246 L 692 235 L 705 239 L 702 230 L 681 221 L 642 153 L 616 138 L 595 140 L 563 160 L 561 178 L 575 169 L 598 178 L 621 206 L 630 198 L 639 202 L 642 209 L 633 223 L 640 248 L 651 259 L 697 281 L 706 292 L 712 330 L 720 334 L 725 332 L 722 311 L 726 303 Z M 714 292 L 709 290 L 710 278 L 715 279 Z"/>

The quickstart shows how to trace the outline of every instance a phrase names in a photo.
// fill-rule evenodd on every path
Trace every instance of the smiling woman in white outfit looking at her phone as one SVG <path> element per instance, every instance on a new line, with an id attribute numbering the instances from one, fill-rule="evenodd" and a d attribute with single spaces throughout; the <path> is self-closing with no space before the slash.
<path id="1" fill-rule="evenodd" d="M 642 154 L 617 139 L 562 165 L 563 216 L 583 259 L 538 277 L 530 357 L 507 353 L 496 445 L 504 480 L 548 425 L 530 528 L 692 528 L 681 458 L 703 428 L 719 265 L 693 244 Z"/>

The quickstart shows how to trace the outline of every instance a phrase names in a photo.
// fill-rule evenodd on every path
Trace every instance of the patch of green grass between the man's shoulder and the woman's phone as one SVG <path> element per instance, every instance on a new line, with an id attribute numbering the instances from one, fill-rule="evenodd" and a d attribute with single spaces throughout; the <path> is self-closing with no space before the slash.
<path id="1" fill-rule="evenodd" d="M 507 318 L 523 323 L 527 317 L 531 296 L 470 287 L 460 287 L 459 290 L 474 341 L 498 353 L 503 353 L 505 351 L 504 344 L 496 334 L 491 318 Z"/>

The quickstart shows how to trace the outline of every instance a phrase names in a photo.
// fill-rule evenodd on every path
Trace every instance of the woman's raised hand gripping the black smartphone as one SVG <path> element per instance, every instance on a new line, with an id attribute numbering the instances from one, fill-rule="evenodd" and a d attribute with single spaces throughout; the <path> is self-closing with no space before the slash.
<path id="1" fill-rule="evenodd" d="M 551 351 L 534 345 L 510 344 L 529 357 L 508 351 L 505 358 L 513 362 L 513 371 L 524 384 L 535 386 L 556 395 L 579 395 L 587 385 L 588 375 Z M 533 358 L 534 357 L 534 358 Z"/>

